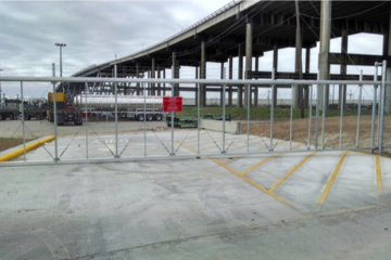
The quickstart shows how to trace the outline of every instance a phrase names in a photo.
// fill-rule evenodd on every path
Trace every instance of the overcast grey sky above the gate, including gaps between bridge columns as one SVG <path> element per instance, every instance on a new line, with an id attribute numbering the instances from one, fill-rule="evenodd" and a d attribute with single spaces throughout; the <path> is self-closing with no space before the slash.
<path id="1" fill-rule="evenodd" d="M 8 76 L 59 76 L 63 48 L 63 76 L 148 48 L 177 34 L 231 0 L 0 0 L 0 68 Z M 351 36 L 350 53 L 381 54 L 382 37 Z M 331 51 L 340 52 L 340 39 Z M 316 73 L 318 49 L 312 50 L 311 70 Z M 260 69 L 272 69 L 273 52 L 261 58 Z M 237 65 L 234 65 L 236 68 Z M 207 65 L 207 77 L 218 77 L 219 65 Z M 294 49 L 279 51 L 280 72 L 294 69 Z M 339 67 L 331 68 L 338 73 Z M 350 73 L 358 74 L 351 66 Z M 364 73 L 373 74 L 371 67 Z M 181 70 L 181 75 L 193 70 Z M 237 72 L 234 70 L 234 77 Z"/>

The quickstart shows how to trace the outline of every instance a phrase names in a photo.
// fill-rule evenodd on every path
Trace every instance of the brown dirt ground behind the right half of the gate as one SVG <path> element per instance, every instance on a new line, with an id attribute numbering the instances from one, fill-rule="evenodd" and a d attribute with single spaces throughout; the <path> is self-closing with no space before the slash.
<path id="1" fill-rule="evenodd" d="M 311 144 L 315 144 L 315 125 L 316 119 L 312 119 L 312 133 Z M 321 145 L 321 118 L 319 119 L 319 136 L 318 145 Z M 390 129 L 391 121 L 386 120 L 384 122 L 384 138 L 383 143 L 391 141 Z M 247 133 L 247 125 L 242 127 L 243 133 Z M 360 123 L 360 147 L 370 146 L 370 133 L 371 133 L 371 117 L 363 116 Z M 377 120 L 375 131 L 377 131 Z M 250 125 L 250 134 L 269 136 L 270 125 L 269 122 L 262 122 L 256 125 Z M 375 134 L 375 143 L 377 143 L 377 134 Z M 290 121 L 279 120 L 274 122 L 274 138 L 282 139 L 286 141 L 290 140 Z M 346 116 L 343 117 L 342 121 L 342 147 L 356 147 L 357 140 L 357 117 Z M 294 119 L 292 123 L 292 141 L 308 143 L 308 118 Z M 340 143 L 340 117 L 327 117 L 325 119 L 325 146 L 326 147 L 339 147 Z M 320 147 L 320 146 L 319 146 Z M 370 152 L 370 151 L 368 151 Z M 388 151 L 386 151 L 388 152 Z"/>

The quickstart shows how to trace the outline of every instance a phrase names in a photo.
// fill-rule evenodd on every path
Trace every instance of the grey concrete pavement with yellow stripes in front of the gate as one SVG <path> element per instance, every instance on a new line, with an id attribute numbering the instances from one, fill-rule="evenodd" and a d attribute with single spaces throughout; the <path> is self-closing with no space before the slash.
<path id="1" fill-rule="evenodd" d="M 1 258 L 388 259 L 390 170 L 354 152 L 2 167 Z"/>

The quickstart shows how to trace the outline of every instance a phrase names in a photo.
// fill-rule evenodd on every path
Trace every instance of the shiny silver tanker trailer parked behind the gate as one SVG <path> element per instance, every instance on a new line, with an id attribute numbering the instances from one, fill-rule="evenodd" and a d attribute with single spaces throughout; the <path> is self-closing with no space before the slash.
<path id="1" fill-rule="evenodd" d="M 161 121 L 165 115 L 161 96 L 117 95 L 116 103 L 119 119 Z M 79 94 L 74 105 L 84 116 L 87 112 L 89 117 L 115 117 L 115 95 Z"/>

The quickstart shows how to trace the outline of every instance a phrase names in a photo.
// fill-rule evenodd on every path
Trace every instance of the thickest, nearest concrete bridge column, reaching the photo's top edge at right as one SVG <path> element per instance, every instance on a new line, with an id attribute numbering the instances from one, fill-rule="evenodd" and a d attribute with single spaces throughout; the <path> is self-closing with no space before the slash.
<path id="1" fill-rule="evenodd" d="M 330 31 L 331 31 L 331 0 L 321 0 L 320 10 L 320 51 L 319 51 L 319 79 L 327 80 L 330 75 L 330 63 L 328 60 L 330 52 Z M 323 109 L 324 106 L 324 88 L 326 88 L 326 109 L 328 107 L 328 87 L 319 86 L 318 105 Z"/>

